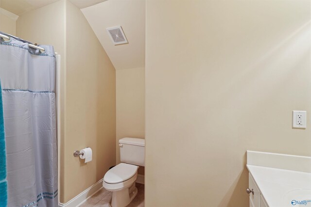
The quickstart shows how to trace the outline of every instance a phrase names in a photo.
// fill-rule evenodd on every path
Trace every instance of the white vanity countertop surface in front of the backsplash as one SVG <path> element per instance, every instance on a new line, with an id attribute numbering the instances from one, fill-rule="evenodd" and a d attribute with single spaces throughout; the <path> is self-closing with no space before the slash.
<path id="1" fill-rule="evenodd" d="M 249 164 L 246 166 L 269 207 L 311 207 L 311 173 Z M 292 205 L 293 200 L 310 202 L 306 205 Z"/>

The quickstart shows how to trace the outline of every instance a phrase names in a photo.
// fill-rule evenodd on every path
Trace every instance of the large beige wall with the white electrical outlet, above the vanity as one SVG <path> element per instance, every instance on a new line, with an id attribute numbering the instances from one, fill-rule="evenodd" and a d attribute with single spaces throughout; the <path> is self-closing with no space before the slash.
<path id="1" fill-rule="evenodd" d="M 146 15 L 147 207 L 247 207 L 246 150 L 311 156 L 309 0 L 147 0 Z"/>

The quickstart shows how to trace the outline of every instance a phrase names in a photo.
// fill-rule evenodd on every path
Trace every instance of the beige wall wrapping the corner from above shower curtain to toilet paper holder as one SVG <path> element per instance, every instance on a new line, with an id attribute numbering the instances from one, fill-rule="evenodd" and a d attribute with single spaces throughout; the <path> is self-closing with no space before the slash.
<path id="1" fill-rule="evenodd" d="M 80 9 L 69 1 L 21 15 L 17 36 L 53 45 L 61 55 L 59 196 L 67 203 L 116 164 L 115 69 Z M 91 162 L 73 157 L 74 150 L 87 146 L 93 149 Z"/>

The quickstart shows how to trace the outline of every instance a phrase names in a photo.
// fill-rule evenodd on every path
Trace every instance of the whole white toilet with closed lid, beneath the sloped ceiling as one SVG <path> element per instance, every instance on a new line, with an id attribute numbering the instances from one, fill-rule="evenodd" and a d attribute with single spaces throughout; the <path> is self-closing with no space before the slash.
<path id="1" fill-rule="evenodd" d="M 145 166 L 145 140 L 122 138 L 119 140 L 120 164 L 105 175 L 103 186 L 112 191 L 112 207 L 125 207 L 137 195 L 136 179 L 139 166 Z"/>

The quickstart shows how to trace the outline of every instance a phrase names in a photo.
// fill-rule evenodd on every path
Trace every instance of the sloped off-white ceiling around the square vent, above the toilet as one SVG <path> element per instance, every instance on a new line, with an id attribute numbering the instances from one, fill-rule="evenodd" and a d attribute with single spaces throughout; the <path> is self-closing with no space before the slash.
<path id="1" fill-rule="evenodd" d="M 81 10 L 117 70 L 145 66 L 145 10 L 145 0 L 107 0 Z M 106 32 L 119 25 L 128 44 L 114 45 Z"/>

